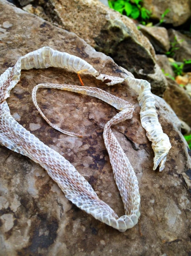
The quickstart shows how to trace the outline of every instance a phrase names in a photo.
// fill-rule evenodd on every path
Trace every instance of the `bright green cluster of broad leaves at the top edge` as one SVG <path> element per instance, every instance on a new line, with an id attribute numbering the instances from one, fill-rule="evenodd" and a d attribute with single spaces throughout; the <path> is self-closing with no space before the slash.
<path id="1" fill-rule="evenodd" d="M 142 0 L 109 0 L 109 7 L 119 11 L 121 14 L 125 14 L 133 19 L 140 19 L 145 23 L 151 16 L 151 11 L 142 7 L 140 3 Z"/>

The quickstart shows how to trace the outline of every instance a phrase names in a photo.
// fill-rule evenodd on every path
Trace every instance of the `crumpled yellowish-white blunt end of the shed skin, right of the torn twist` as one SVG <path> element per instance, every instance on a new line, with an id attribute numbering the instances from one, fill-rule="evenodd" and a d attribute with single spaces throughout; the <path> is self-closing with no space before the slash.
<path id="1" fill-rule="evenodd" d="M 171 143 L 169 137 L 163 133 L 162 126 L 158 122 L 155 98 L 151 92 L 151 85 L 146 80 L 135 79 L 129 76 L 126 77 L 126 80 L 129 82 L 129 86 L 139 95 L 140 121 L 146 130 L 148 139 L 152 141 L 152 148 L 155 153 L 153 170 L 156 170 L 159 165 L 159 171 L 163 171 L 166 155 L 171 149 Z"/>

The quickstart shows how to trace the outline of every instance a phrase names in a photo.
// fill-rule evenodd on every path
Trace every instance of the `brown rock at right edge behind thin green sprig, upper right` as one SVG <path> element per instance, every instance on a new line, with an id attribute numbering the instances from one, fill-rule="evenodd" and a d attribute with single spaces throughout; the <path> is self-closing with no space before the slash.
<path id="1" fill-rule="evenodd" d="M 173 51 L 173 58 L 176 61 L 191 59 L 191 38 L 174 29 L 169 29 L 168 34 L 170 42 L 176 42 L 175 47 L 179 47 L 179 49 Z"/>

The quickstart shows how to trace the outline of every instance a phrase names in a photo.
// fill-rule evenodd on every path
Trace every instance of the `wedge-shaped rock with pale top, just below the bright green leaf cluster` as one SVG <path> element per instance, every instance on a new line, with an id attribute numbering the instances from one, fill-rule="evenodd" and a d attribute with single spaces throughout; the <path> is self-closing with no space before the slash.
<path id="1" fill-rule="evenodd" d="M 139 26 L 140 31 L 149 39 L 157 53 L 166 53 L 169 51 L 170 42 L 166 28 Z"/>

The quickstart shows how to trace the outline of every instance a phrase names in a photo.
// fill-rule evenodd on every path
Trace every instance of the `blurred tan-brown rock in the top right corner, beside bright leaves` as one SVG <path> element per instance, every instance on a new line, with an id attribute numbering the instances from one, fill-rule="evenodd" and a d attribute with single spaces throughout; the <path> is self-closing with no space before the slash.
<path id="1" fill-rule="evenodd" d="M 151 17 L 160 20 L 166 9 L 170 12 L 165 15 L 164 22 L 179 26 L 191 15 L 190 0 L 144 0 L 143 6 L 152 11 Z"/>

